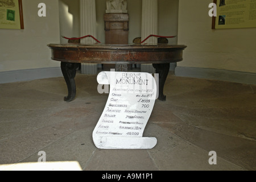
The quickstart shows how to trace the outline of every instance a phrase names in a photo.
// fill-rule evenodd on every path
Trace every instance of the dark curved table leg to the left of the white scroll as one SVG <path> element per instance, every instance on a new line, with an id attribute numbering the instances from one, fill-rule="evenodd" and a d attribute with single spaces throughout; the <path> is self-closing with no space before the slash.
<path id="1" fill-rule="evenodd" d="M 60 67 L 68 87 L 68 96 L 64 97 L 64 101 L 71 102 L 76 97 L 75 77 L 76 69 L 79 67 L 79 63 L 61 62 Z"/>

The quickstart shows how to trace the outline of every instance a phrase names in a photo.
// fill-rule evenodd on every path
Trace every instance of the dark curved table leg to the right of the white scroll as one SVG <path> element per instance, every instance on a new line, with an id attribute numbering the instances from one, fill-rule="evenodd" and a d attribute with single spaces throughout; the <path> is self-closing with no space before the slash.
<path id="1" fill-rule="evenodd" d="M 169 73 L 170 63 L 153 64 L 155 72 L 159 74 L 159 96 L 160 101 L 166 101 L 166 96 L 163 94 L 164 83 Z"/>

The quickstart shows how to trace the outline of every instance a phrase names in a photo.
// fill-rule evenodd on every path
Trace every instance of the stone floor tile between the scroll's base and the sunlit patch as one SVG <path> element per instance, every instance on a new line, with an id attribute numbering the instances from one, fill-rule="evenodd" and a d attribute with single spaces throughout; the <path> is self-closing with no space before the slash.
<path id="1" fill-rule="evenodd" d="M 40 156 L 39 151 L 46 152 L 46 162 L 78 162 L 81 167 L 92 158 L 96 147 L 92 140 L 93 127 L 73 131 L 65 137 L 55 140 L 45 147 L 40 148 L 31 156 L 23 159 L 24 162 L 37 162 Z"/>

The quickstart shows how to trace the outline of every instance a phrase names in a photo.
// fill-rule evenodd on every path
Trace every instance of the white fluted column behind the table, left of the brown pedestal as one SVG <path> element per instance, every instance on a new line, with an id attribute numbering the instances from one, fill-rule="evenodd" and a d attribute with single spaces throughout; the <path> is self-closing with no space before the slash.
<path id="1" fill-rule="evenodd" d="M 96 5 L 95 0 L 80 0 L 80 35 L 96 36 Z M 88 37 L 81 39 L 81 43 L 94 44 L 96 40 Z M 82 63 L 81 73 L 96 75 L 98 64 Z"/>

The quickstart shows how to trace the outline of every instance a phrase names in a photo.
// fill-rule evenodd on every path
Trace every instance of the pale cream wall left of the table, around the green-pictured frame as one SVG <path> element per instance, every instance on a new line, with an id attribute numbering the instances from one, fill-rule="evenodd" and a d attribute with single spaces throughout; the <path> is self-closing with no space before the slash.
<path id="1" fill-rule="evenodd" d="M 23 0 L 24 30 L 0 29 L 0 72 L 59 67 L 51 60 L 47 44 L 60 42 L 57 0 Z M 38 16 L 38 4 L 46 3 L 46 17 Z"/>

